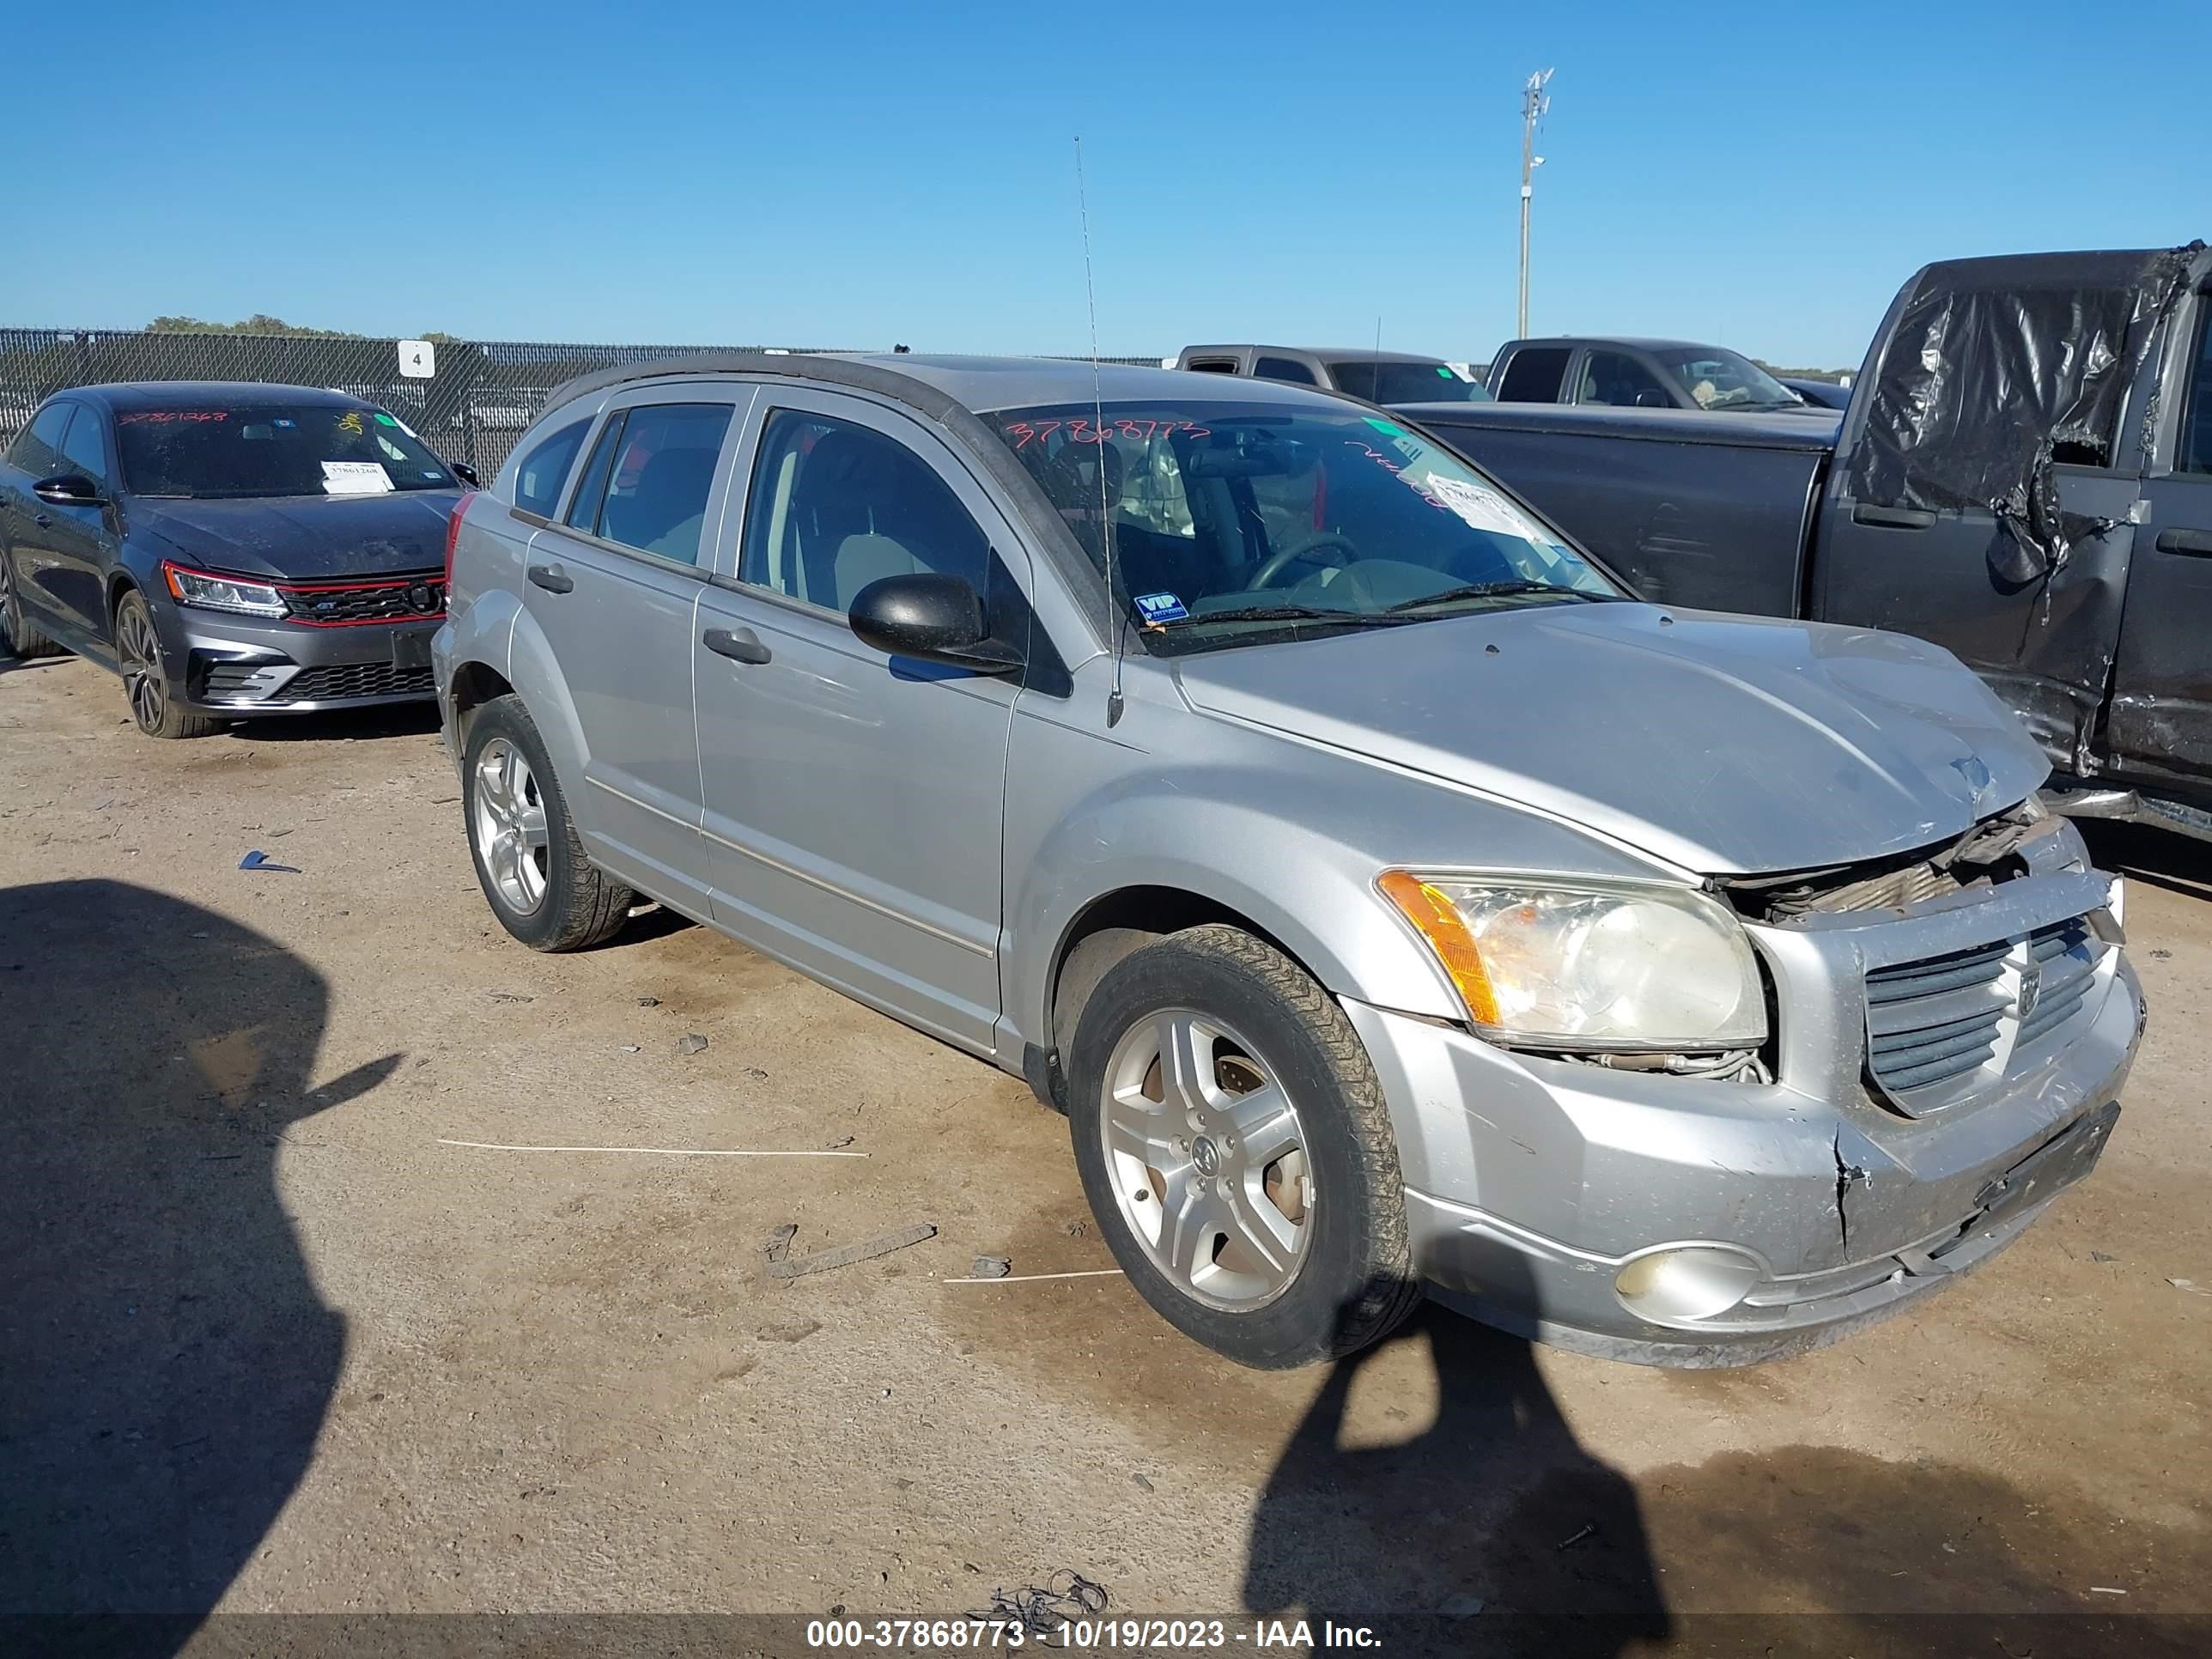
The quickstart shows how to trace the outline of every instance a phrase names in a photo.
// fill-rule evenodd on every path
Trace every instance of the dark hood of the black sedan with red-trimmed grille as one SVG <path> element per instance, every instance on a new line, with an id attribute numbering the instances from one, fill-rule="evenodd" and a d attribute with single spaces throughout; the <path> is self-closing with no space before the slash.
<path id="1" fill-rule="evenodd" d="M 436 571 L 458 489 L 389 495 L 257 495 L 250 500 L 131 498 L 131 533 L 150 533 L 181 564 L 228 575 L 319 582 Z"/>

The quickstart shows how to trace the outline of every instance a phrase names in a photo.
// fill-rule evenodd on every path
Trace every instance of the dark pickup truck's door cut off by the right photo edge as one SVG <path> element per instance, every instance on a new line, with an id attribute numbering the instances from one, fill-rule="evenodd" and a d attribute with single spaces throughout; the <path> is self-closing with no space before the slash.
<path id="1" fill-rule="evenodd" d="M 2212 292 L 2199 290 L 2177 316 L 2172 354 L 2179 398 L 2166 398 L 2143 476 L 2106 737 L 2126 772 L 2203 785 L 2212 779 Z"/>

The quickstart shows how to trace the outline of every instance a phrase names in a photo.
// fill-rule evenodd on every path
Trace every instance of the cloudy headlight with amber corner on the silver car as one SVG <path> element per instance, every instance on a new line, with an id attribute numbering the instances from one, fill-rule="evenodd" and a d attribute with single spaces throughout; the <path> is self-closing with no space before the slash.
<path id="1" fill-rule="evenodd" d="M 1705 894 L 1407 869 L 1376 885 L 1493 1037 L 1652 1051 L 1765 1042 L 1752 942 Z"/>

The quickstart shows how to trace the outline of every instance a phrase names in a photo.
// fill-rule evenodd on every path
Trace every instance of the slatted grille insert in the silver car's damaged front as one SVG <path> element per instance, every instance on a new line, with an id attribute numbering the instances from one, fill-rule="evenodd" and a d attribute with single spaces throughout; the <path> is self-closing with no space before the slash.
<path id="1" fill-rule="evenodd" d="M 2055 1031 L 2081 1006 L 2104 945 L 2088 922 L 2042 927 L 2026 940 L 2031 967 L 2013 971 L 2020 940 L 1867 973 L 1867 1071 L 1891 1095 L 1938 1088 Z M 2033 1000 L 2028 984 L 2033 982 Z M 2015 1022 L 2006 1031 L 2006 1022 Z"/>

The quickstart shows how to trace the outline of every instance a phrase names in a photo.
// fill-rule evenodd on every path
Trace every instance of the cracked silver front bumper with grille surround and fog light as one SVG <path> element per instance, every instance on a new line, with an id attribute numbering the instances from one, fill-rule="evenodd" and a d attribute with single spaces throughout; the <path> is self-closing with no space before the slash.
<path id="1" fill-rule="evenodd" d="M 1907 920 L 1754 927 L 1772 1084 L 1509 1053 L 1347 1002 L 1391 1104 L 1416 1265 L 1489 1323 L 1648 1365 L 1752 1365 L 1893 1312 L 2093 1168 L 2143 1002 L 2117 945 L 2055 1024 L 2000 962 L 1989 995 L 2013 1004 L 1991 1060 L 1893 1093 L 1869 1071 L 1869 975 L 1995 940 L 2033 962 L 2033 940 L 2081 918 L 2117 933 L 2112 911 L 2110 878 L 2066 872 Z"/>

